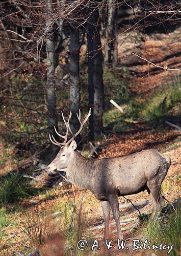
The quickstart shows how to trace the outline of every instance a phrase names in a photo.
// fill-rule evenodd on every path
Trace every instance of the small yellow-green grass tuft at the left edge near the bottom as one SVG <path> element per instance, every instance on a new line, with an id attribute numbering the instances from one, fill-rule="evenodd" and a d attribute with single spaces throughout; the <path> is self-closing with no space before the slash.
<path id="1" fill-rule="evenodd" d="M 6 228 L 11 224 L 7 209 L 2 206 L 0 209 L 0 241 L 6 235 Z"/>

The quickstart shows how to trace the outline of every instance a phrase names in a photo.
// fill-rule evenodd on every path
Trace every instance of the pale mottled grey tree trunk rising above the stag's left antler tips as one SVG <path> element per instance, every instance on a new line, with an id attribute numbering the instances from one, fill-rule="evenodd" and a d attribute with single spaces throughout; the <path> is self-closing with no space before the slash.
<path id="1" fill-rule="evenodd" d="M 49 13 L 51 12 L 51 2 L 46 0 L 46 13 L 47 13 L 47 27 L 48 31 L 45 38 L 46 44 L 46 61 L 47 61 L 47 74 L 46 74 L 46 98 L 47 98 L 47 115 L 48 115 L 48 127 L 49 133 L 57 135 L 54 131 L 54 126 L 58 128 L 57 116 L 56 116 L 56 95 L 55 95 L 55 67 L 56 67 L 56 47 L 55 47 L 55 31 L 54 23 L 48 19 Z M 53 143 L 51 145 L 51 150 L 55 152 L 57 146 Z"/>

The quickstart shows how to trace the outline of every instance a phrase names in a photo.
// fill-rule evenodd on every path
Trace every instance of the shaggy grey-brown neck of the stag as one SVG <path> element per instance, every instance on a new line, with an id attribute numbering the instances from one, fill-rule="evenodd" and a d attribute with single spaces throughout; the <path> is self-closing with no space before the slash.
<path id="1" fill-rule="evenodd" d="M 74 151 L 67 166 L 67 178 L 77 186 L 85 189 L 90 188 L 92 166 L 94 159 L 83 157 L 79 152 Z"/>

